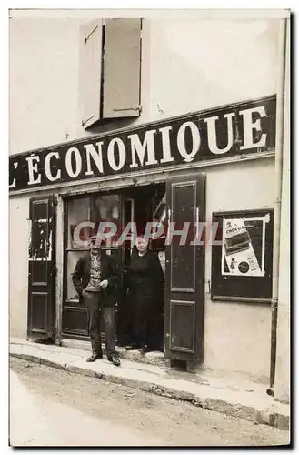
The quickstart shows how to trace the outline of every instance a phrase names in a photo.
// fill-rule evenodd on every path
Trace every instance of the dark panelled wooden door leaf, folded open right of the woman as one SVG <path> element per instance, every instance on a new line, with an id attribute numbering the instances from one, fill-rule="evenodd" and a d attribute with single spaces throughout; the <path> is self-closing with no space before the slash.
<path id="1" fill-rule="evenodd" d="M 190 223 L 189 235 L 168 237 L 165 248 L 164 350 L 168 359 L 204 360 L 204 246 L 196 238 L 205 220 L 205 175 L 166 182 L 168 236 Z M 197 243 L 197 245 L 196 245 Z"/>

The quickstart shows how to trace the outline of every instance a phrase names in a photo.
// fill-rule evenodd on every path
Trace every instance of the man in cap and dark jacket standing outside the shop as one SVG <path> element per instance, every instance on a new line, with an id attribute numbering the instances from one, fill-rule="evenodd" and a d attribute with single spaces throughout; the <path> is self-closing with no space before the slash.
<path id="1" fill-rule="evenodd" d="M 84 298 L 87 309 L 88 329 L 92 344 L 92 355 L 87 362 L 103 358 L 101 345 L 101 314 L 105 321 L 105 347 L 107 358 L 119 366 L 120 360 L 115 351 L 115 304 L 119 271 L 115 259 L 105 253 L 101 247 L 103 241 L 97 243 L 95 237 L 90 238 L 90 255 L 78 260 L 73 273 L 75 290 Z"/>

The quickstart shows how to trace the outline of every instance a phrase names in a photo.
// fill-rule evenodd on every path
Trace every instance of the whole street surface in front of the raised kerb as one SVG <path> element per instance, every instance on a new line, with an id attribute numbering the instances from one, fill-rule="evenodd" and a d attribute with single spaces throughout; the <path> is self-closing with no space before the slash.
<path id="1" fill-rule="evenodd" d="M 12 446 L 269 446 L 288 433 L 11 359 Z"/>

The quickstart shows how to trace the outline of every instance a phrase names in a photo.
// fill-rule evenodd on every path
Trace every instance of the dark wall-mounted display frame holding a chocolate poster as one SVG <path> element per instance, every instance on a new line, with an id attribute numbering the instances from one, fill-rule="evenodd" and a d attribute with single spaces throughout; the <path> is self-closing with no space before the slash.
<path id="1" fill-rule="evenodd" d="M 273 210 L 213 214 L 213 300 L 270 302 Z"/>

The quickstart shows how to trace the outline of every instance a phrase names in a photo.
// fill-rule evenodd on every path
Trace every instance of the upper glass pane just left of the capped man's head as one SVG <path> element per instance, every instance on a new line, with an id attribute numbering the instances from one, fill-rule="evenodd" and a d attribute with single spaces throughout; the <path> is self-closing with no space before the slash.
<path id="1" fill-rule="evenodd" d="M 88 226 L 92 221 L 90 206 L 90 197 L 72 199 L 68 202 L 67 248 L 85 248 L 87 238 L 94 234 L 93 227 Z M 80 223 L 85 223 L 85 226 L 80 228 Z"/>

